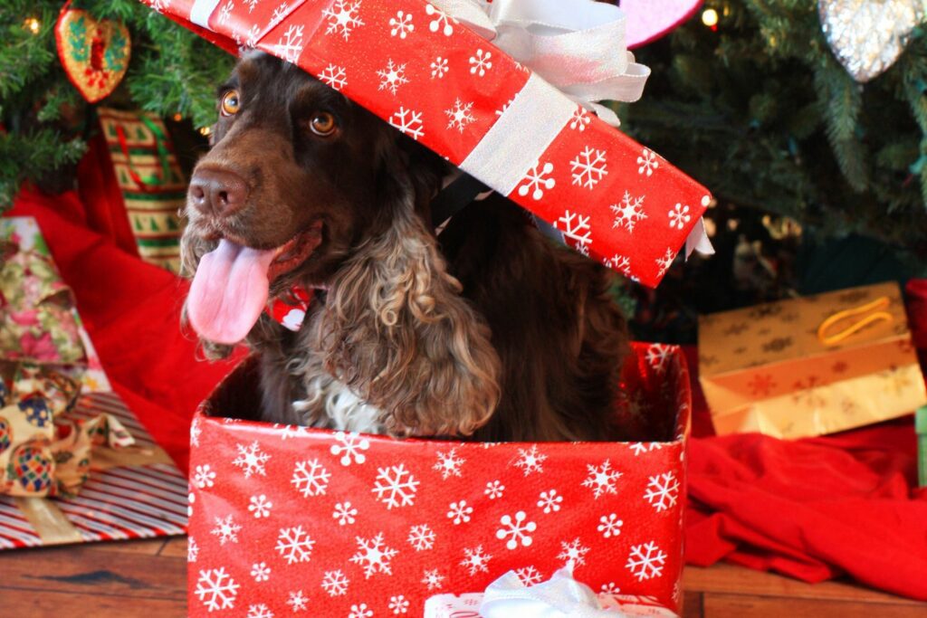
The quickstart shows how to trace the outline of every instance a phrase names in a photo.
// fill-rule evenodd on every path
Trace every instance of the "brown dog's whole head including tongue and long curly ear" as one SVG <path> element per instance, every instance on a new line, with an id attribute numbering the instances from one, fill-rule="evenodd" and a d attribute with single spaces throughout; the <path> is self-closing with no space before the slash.
<path id="1" fill-rule="evenodd" d="M 425 224 L 443 160 L 260 52 L 218 99 L 185 208 L 185 314 L 197 334 L 236 344 L 270 296 L 325 287 L 313 353 L 329 372 L 397 432 L 472 432 L 498 398 L 498 359 Z M 463 414 L 440 411 L 455 400 Z"/>

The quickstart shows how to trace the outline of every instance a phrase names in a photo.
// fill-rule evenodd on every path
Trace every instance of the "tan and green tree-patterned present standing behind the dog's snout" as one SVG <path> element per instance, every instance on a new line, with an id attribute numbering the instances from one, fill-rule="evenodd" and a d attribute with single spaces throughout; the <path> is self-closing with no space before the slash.
<path id="1" fill-rule="evenodd" d="M 167 128 L 147 112 L 97 111 L 139 255 L 179 272 L 186 179 Z"/>

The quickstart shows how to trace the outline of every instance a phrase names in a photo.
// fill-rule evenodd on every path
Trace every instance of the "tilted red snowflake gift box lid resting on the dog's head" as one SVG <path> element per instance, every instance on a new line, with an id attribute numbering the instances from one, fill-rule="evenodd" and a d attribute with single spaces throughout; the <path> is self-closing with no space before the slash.
<path id="1" fill-rule="evenodd" d="M 298 64 L 643 284 L 659 283 L 711 201 L 424 0 L 142 1 L 229 51 Z"/>

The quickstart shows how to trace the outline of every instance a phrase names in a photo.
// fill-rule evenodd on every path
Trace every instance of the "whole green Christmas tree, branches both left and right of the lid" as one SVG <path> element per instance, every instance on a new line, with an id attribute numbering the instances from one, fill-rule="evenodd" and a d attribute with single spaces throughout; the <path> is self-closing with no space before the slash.
<path id="1" fill-rule="evenodd" d="M 7 0 L 0 12 L 0 208 L 23 181 L 47 182 L 79 159 L 93 127 L 57 57 L 62 6 Z M 211 124 L 231 56 L 137 0 L 71 6 L 131 33 L 128 72 L 106 104 Z M 923 32 L 910 32 L 894 64 L 860 84 L 834 57 L 812 0 L 708 0 L 700 15 L 638 50 L 653 76 L 641 102 L 622 109 L 623 129 L 728 207 L 780 213 L 819 237 L 863 233 L 927 254 Z"/>

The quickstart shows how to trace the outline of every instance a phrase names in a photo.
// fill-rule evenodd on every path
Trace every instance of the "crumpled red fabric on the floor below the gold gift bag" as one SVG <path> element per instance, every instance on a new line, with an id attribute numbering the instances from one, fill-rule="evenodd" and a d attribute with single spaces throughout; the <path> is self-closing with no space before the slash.
<path id="1" fill-rule="evenodd" d="M 849 574 L 927 600 L 927 491 L 916 487 L 911 417 L 794 442 L 716 436 L 696 382 L 688 563 L 726 559 L 806 582 Z"/>

